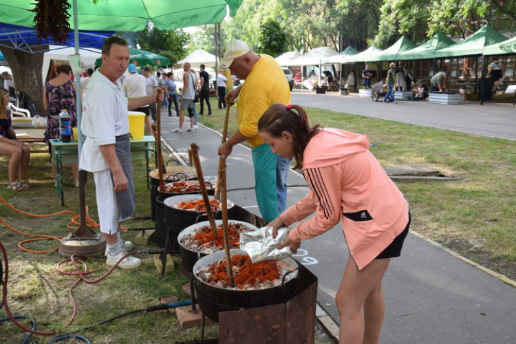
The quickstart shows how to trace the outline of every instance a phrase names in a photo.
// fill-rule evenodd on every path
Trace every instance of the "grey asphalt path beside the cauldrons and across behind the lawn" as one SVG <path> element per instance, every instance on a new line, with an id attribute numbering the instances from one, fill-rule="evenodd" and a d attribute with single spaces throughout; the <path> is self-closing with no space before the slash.
<path id="1" fill-rule="evenodd" d="M 300 92 L 292 94 L 292 103 L 516 139 L 516 109 L 512 106 L 446 106 L 421 102 L 392 105 L 354 96 Z M 233 109 L 230 116 L 235 116 Z M 464 123 L 458 118 L 463 118 Z M 221 135 L 202 125 L 193 133 L 172 133 L 177 122 L 175 117 L 163 118 L 162 137 L 166 144 L 187 161 L 188 147 L 192 142 L 197 143 L 204 175 L 215 175 Z M 235 147 L 226 164 L 228 199 L 259 215 L 250 150 Z M 302 175 L 294 171 L 289 173 L 288 184 L 290 206 L 308 193 L 308 187 Z M 319 278 L 318 301 L 324 311 L 319 315 L 338 333 L 334 296 L 348 255 L 340 224 L 321 237 L 304 241 L 301 248 L 297 259 Z M 393 259 L 384 279 L 387 310 L 380 343 L 515 343 L 516 283 L 510 280 L 504 283 L 503 277 L 495 277 L 481 268 L 417 233 L 410 233 L 402 257 Z"/>

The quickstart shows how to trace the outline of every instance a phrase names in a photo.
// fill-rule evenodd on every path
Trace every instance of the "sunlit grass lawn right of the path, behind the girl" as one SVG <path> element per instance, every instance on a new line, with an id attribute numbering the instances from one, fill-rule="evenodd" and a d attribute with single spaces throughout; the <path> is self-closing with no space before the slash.
<path id="1" fill-rule="evenodd" d="M 365 133 L 383 165 L 420 164 L 454 182 L 398 183 L 411 229 L 516 280 L 516 142 L 306 108 L 312 125 Z M 200 117 L 222 132 L 224 111 Z M 229 135 L 237 128 L 231 109 Z"/>

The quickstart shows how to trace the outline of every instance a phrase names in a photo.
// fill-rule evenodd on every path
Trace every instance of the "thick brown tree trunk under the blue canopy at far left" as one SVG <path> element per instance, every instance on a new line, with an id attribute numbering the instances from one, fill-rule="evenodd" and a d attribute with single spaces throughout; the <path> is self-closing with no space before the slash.
<path id="1" fill-rule="evenodd" d="M 43 53 L 48 51 L 48 45 L 32 47 L 33 51 L 24 52 L 14 50 L 9 47 L 0 47 L 3 56 L 12 70 L 14 86 L 17 92 L 25 92 L 36 106 L 40 116 L 46 116 L 43 110 L 43 78 L 41 69 L 43 68 Z"/>

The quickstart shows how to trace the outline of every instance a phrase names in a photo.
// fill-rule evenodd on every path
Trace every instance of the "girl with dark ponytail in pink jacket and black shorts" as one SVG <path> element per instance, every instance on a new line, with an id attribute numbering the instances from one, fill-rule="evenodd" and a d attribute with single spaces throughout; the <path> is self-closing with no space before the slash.
<path id="1" fill-rule="evenodd" d="M 272 153 L 295 158 L 294 169 L 303 169 L 310 188 L 269 226 L 276 233 L 316 213 L 290 230 L 278 248 L 297 252 L 301 240 L 341 221 L 350 259 L 335 298 L 340 343 L 378 343 L 385 312 L 382 279 L 391 258 L 400 256 L 409 231 L 409 204 L 368 151 L 365 135 L 310 127 L 302 107 L 281 104 L 261 116 L 258 130 Z"/>

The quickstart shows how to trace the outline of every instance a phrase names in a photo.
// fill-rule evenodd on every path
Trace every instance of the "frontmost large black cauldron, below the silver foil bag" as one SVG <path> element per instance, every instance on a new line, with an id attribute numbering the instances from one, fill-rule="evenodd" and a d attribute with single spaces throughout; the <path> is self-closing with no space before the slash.
<path id="1" fill-rule="evenodd" d="M 230 250 L 231 255 L 245 255 L 244 250 Z M 193 266 L 193 277 L 197 303 L 202 312 L 213 321 L 219 320 L 219 312 L 259 308 L 288 301 L 296 292 L 299 270 L 286 275 L 281 286 L 261 290 L 230 290 L 211 286 L 197 276 L 200 268 L 225 257 L 224 251 L 219 251 L 200 258 Z M 292 258 L 281 259 L 290 268 L 297 269 L 297 262 Z"/>

